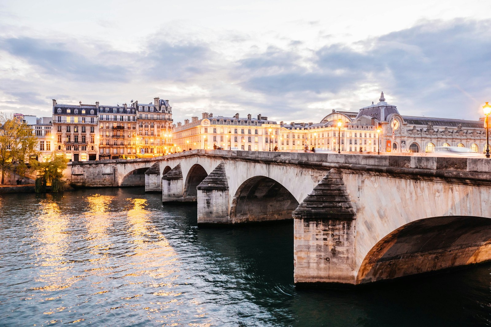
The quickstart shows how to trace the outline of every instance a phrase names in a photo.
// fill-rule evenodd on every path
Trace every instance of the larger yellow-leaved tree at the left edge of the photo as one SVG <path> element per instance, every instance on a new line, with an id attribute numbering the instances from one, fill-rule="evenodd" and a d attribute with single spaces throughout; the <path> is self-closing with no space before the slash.
<path id="1" fill-rule="evenodd" d="M 0 169 L 1 184 L 5 172 L 14 170 L 24 176 L 29 157 L 35 154 L 37 138 L 25 122 L 0 114 Z"/>

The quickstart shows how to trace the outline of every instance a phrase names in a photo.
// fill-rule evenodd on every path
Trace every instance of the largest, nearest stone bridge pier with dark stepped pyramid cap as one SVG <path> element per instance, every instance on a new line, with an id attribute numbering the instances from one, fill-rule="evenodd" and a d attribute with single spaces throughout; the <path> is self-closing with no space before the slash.
<path id="1" fill-rule="evenodd" d="M 295 283 L 355 284 L 355 210 L 341 173 L 331 169 L 293 218 Z"/>

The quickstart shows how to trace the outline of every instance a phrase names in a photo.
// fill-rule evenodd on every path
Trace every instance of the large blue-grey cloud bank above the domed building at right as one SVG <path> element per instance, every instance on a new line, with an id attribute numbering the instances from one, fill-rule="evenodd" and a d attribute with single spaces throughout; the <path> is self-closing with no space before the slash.
<path id="1" fill-rule="evenodd" d="M 431 115 L 441 115 L 445 107 L 445 114 L 463 117 L 460 110 L 477 104 L 469 103 L 459 88 L 475 99 L 489 96 L 483 92 L 491 88 L 486 71 L 491 67 L 490 27 L 491 21 L 424 21 L 355 44 L 328 45 L 314 57 L 299 59 L 297 49 L 267 50 L 240 61 L 242 74 L 250 76 L 241 85 L 260 92 L 274 106 L 281 96 L 328 101 L 372 84 L 400 101 L 394 104 L 403 114 L 406 105 Z M 302 60 L 305 65 L 298 64 Z M 346 99 L 347 106 L 356 101 Z"/>

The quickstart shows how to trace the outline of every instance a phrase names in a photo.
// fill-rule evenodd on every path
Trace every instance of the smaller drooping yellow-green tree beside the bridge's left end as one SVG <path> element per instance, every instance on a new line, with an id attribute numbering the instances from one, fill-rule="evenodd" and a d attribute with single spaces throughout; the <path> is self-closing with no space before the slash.
<path id="1" fill-rule="evenodd" d="M 64 155 L 56 155 L 55 152 L 51 155 L 50 161 L 32 161 L 32 168 L 38 172 L 39 176 L 36 178 L 36 193 L 45 192 L 48 184 L 51 184 L 52 192 L 62 191 L 64 181 L 61 178 L 67 163 L 68 159 Z"/>

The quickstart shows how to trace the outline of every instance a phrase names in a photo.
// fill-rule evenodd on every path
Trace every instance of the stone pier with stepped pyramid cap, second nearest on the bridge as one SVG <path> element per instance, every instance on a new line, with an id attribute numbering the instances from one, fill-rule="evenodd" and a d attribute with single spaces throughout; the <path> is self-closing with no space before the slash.
<path id="1" fill-rule="evenodd" d="M 229 224 L 228 181 L 223 163 L 196 187 L 198 224 Z"/>

